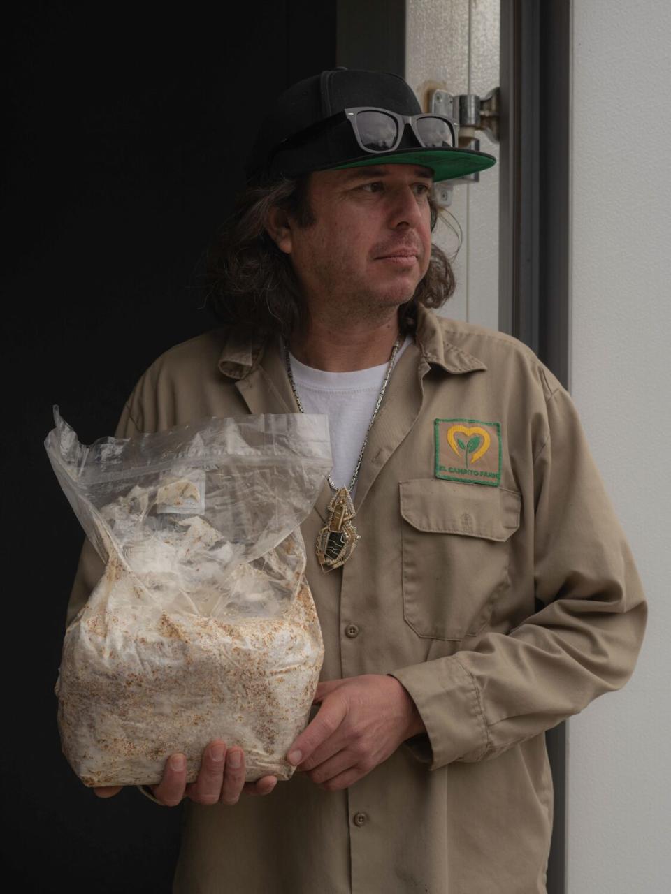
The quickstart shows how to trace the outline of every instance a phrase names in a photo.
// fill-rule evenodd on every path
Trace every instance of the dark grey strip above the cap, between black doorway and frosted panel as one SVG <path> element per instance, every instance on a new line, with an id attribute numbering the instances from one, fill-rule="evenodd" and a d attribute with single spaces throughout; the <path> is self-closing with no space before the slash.
<path id="1" fill-rule="evenodd" d="M 337 0 L 336 64 L 405 75 L 405 0 Z"/>

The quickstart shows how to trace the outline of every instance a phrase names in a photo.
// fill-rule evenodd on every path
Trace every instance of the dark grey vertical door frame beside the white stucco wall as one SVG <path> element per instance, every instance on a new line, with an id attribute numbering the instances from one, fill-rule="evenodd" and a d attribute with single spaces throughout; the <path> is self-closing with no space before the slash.
<path id="1" fill-rule="evenodd" d="M 566 386 L 570 82 L 570 0 L 502 0 L 499 328 Z M 546 742 L 555 787 L 548 894 L 565 894 L 566 724 Z"/>

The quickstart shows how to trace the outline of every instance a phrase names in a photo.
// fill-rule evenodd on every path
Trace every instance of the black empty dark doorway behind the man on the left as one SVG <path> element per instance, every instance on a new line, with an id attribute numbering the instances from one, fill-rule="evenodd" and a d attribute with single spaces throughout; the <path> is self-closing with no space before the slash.
<path id="1" fill-rule="evenodd" d="M 335 0 L 33 0 L 4 34 L 5 871 L 26 894 L 168 891 L 179 811 L 135 790 L 98 800 L 60 755 L 82 534 L 42 443 L 54 403 L 82 441 L 112 434 L 149 363 L 211 325 L 199 257 L 268 103 L 335 65 Z"/>

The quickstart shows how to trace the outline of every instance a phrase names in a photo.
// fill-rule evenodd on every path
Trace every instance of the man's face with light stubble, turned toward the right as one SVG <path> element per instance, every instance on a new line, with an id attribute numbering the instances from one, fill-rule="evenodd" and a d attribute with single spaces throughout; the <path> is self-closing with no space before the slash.
<path id="1" fill-rule="evenodd" d="M 431 253 L 432 173 L 379 164 L 310 175 L 315 223 L 291 224 L 287 251 L 310 307 L 370 318 L 412 298 Z"/>

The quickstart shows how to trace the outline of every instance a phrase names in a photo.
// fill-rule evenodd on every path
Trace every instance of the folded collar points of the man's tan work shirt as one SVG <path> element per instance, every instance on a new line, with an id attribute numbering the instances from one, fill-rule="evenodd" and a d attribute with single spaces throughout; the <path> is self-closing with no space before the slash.
<path id="1" fill-rule="evenodd" d="M 415 334 L 422 358 L 447 373 L 471 373 L 476 369 L 487 369 L 482 360 L 450 342 L 441 328 L 439 317 L 421 305 L 417 308 Z M 220 372 L 232 379 L 245 378 L 259 365 L 270 338 L 272 336 L 268 333 L 250 334 L 232 330 L 227 334 L 219 357 Z"/>

